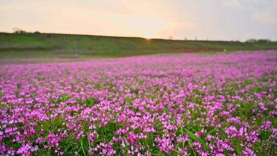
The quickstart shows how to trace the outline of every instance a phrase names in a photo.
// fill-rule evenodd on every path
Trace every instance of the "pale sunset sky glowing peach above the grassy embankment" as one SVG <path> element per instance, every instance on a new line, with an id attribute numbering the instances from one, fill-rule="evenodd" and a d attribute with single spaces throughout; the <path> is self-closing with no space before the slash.
<path id="1" fill-rule="evenodd" d="M 277 0 L 0 0 L 0 32 L 277 41 Z"/>

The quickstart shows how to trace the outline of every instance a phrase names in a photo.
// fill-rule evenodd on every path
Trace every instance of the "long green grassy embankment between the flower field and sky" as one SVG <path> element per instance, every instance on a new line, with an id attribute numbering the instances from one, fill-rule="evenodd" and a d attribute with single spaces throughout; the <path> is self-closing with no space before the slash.
<path id="1" fill-rule="evenodd" d="M 175 41 L 52 33 L 0 33 L 0 58 L 122 57 L 224 49 L 277 49 L 277 42 Z"/>

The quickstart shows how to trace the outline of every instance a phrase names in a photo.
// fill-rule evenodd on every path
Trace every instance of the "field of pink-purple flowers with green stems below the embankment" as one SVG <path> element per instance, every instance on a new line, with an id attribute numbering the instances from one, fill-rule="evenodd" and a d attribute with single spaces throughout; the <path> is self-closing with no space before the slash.
<path id="1" fill-rule="evenodd" d="M 0 66 L 0 155 L 277 155 L 277 52 Z"/>

